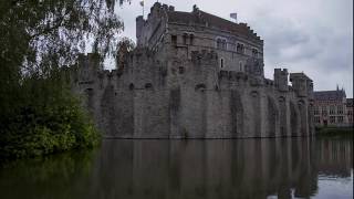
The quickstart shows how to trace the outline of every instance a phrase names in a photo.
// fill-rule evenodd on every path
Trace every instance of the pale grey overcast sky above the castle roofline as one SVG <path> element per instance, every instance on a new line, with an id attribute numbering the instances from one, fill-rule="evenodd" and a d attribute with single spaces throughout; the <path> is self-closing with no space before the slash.
<path id="1" fill-rule="evenodd" d="M 118 8 L 123 35 L 135 40 L 135 18 L 143 13 L 138 0 Z M 145 15 L 156 0 L 145 0 Z M 159 0 L 178 11 L 202 11 L 248 23 L 264 40 L 264 72 L 274 67 L 304 72 L 315 91 L 344 87 L 353 97 L 353 0 Z"/>

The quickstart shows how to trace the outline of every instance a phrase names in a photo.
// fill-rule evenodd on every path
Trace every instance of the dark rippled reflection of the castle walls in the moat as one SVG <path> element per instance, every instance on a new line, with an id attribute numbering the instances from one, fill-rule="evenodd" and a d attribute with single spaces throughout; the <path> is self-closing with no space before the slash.
<path id="1" fill-rule="evenodd" d="M 103 145 L 94 178 L 104 187 L 91 196 L 309 197 L 319 191 L 319 174 L 350 177 L 353 168 L 351 140 L 116 142 Z"/>

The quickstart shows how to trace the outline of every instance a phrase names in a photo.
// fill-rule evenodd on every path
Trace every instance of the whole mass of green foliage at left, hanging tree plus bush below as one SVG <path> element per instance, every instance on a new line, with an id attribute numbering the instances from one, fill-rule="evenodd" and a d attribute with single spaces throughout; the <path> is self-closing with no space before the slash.
<path id="1" fill-rule="evenodd" d="M 98 144 L 63 66 L 87 40 L 103 56 L 116 51 L 124 24 L 115 2 L 129 0 L 0 1 L 0 158 Z"/>

